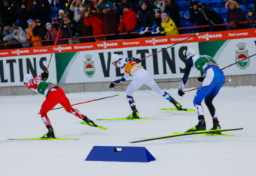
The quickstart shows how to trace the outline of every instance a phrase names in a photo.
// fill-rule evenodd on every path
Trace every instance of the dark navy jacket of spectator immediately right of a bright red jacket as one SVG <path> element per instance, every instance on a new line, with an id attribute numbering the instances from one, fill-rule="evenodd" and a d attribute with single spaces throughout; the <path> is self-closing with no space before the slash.
<path id="1" fill-rule="evenodd" d="M 138 19 L 136 22 L 135 29 L 139 30 L 142 27 L 151 27 L 153 25 L 154 12 L 149 10 L 140 10 L 138 12 Z"/>

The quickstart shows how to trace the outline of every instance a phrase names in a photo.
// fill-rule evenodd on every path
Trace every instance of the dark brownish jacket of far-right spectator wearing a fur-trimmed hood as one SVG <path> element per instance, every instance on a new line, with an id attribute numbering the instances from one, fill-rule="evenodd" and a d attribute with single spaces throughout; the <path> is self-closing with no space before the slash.
<path id="1" fill-rule="evenodd" d="M 238 25 L 239 22 L 245 21 L 245 13 L 241 8 L 234 8 L 233 10 L 227 10 L 227 22 L 234 21 L 236 24 L 236 27 L 231 27 L 232 30 L 234 29 L 242 29 L 247 28 L 245 24 Z"/>

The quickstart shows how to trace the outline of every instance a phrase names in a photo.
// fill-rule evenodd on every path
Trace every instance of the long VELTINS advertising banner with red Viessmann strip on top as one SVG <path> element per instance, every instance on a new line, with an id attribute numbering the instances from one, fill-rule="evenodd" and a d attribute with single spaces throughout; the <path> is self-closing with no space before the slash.
<path id="1" fill-rule="evenodd" d="M 145 58 L 142 66 L 154 79 L 181 78 L 184 73 L 184 50 L 192 47 L 200 55 L 211 55 L 219 66 L 226 67 L 236 61 L 253 55 L 255 30 L 202 33 L 169 49 L 166 47 L 194 34 L 175 37 L 149 37 L 133 40 L 114 40 L 98 43 L 57 46 L 50 63 L 49 80 L 54 83 L 110 82 L 123 76 L 123 70 L 111 64 L 111 55 Z M 227 38 L 237 38 L 227 40 Z M 239 38 L 240 37 L 240 38 Z M 38 47 L 29 49 L 3 50 L 0 54 L 0 86 L 23 85 L 23 76 L 40 74 L 47 67 L 51 49 Z M 10 56 L 6 51 L 11 52 Z M 47 52 L 47 53 L 44 53 Z M 34 53 L 28 55 L 27 53 Z M 43 54 L 44 53 L 44 54 Z M 255 74 L 256 59 L 249 58 L 224 70 L 225 75 Z M 192 70 L 190 76 L 200 76 Z"/>

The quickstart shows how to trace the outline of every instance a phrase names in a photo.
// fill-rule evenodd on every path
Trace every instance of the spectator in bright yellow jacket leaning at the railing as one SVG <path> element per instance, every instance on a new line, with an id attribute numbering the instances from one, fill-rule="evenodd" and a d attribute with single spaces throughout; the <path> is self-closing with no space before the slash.
<path id="1" fill-rule="evenodd" d="M 167 13 L 162 13 L 162 28 L 160 28 L 161 34 L 169 35 L 178 35 L 178 30 L 176 29 L 175 22 L 171 19 Z"/>

